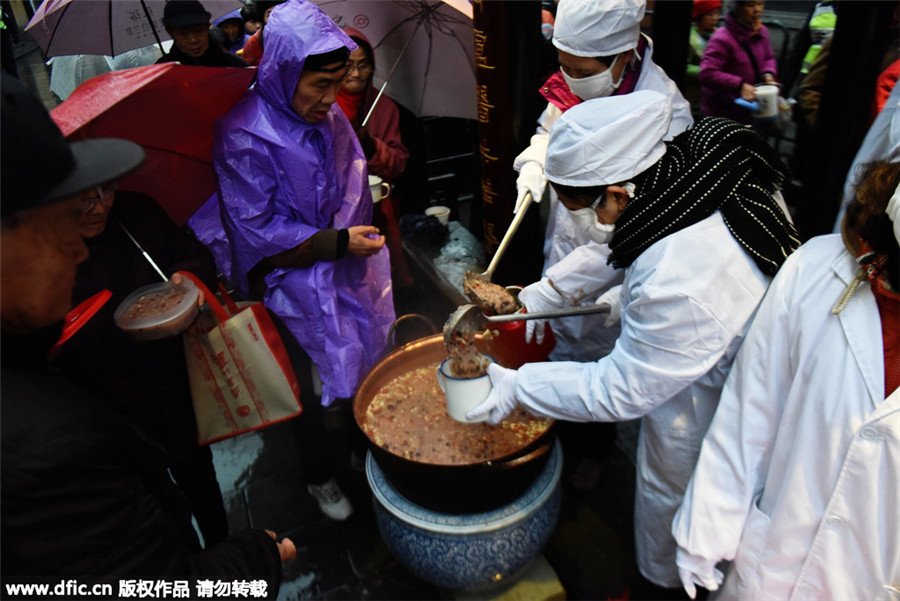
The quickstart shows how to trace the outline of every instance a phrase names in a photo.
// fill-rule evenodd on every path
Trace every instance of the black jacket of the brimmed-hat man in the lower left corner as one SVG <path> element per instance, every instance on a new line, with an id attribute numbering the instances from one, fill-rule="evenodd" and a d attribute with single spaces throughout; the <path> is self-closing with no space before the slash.
<path id="1" fill-rule="evenodd" d="M 59 333 L 2 333 L 0 579 L 264 580 L 275 597 L 278 548 L 244 530 L 201 550 L 161 450 L 118 413 L 43 367 Z"/>

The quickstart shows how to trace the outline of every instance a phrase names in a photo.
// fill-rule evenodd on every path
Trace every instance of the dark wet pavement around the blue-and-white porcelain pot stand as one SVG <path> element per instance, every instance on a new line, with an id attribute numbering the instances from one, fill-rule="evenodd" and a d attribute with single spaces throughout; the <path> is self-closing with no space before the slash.
<path id="1" fill-rule="evenodd" d="M 213 445 L 232 530 L 268 528 L 297 546 L 297 558 L 284 565 L 279 599 L 462 598 L 418 579 L 392 557 L 375 524 L 363 472 L 348 465 L 337 475 L 353 516 L 340 523 L 325 518 L 306 492 L 292 436 L 289 424 L 278 424 Z M 557 598 L 634 598 L 631 459 L 615 447 L 588 493 L 571 488 L 571 461 L 564 462 L 562 509 L 543 551 L 565 591 Z M 491 599 L 500 592 L 465 598 Z"/>

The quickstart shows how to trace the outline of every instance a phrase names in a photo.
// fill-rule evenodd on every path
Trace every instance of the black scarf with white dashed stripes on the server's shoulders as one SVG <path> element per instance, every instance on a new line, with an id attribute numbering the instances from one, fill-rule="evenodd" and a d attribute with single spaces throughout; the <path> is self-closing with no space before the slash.
<path id="1" fill-rule="evenodd" d="M 616 221 L 609 261 L 631 265 L 657 240 L 720 211 L 731 235 L 774 275 L 800 239 L 772 194 L 786 169 L 749 128 L 706 117 L 666 143 L 666 154 L 632 181 L 637 195 Z"/>

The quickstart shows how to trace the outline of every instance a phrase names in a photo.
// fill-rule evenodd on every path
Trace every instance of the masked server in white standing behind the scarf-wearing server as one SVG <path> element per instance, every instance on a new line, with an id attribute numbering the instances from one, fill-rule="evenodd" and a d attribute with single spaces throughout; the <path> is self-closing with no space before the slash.
<path id="1" fill-rule="evenodd" d="M 526 193 L 534 202 L 541 201 L 547 187 L 544 163 L 550 132 L 571 107 L 593 98 L 655 90 L 671 100 L 667 140 L 693 123 L 690 105 L 678 86 L 653 62 L 653 42 L 641 33 L 645 9 L 646 0 L 561 0 L 557 5 L 553 45 L 560 70 L 541 86 L 539 92 L 547 99 L 547 108 L 538 119 L 530 145 L 513 162 L 519 172 L 515 212 L 523 206 Z M 553 190 L 549 191 L 549 202 L 542 273 L 589 241 L 573 227 Z M 533 300 L 537 302 L 539 299 Z M 608 353 L 619 330 L 618 325 L 605 328 L 604 321 L 594 315 L 551 321 L 556 336 L 551 358 L 588 361 Z"/>

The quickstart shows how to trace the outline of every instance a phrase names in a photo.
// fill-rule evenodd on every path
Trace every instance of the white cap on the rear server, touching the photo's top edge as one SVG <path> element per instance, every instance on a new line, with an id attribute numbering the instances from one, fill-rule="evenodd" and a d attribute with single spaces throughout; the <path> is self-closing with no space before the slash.
<path id="1" fill-rule="evenodd" d="M 646 4 L 646 0 L 560 0 L 553 45 L 590 58 L 636 48 Z"/>

